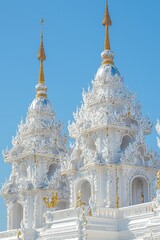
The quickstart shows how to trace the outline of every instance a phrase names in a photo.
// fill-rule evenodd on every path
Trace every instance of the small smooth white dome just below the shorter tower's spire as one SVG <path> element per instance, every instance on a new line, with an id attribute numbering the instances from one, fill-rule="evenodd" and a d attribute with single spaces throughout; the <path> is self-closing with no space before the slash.
<path id="1" fill-rule="evenodd" d="M 46 98 L 35 98 L 30 105 L 29 111 L 47 112 L 52 113 L 52 106 Z"/>

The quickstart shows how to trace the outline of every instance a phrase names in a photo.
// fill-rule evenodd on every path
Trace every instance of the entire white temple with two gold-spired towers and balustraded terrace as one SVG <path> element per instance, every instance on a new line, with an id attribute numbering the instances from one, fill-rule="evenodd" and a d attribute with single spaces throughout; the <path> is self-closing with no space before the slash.
<path id="1" fill-rule="evenodd" d="M 0 239 L 160 240 L 160 161 L 144 142 L 152 124 L 114 65 L 108 3 L 103 25 L 102 65 L 69 125 L 71 148 L 47 98 L 41 35 L 37 95 L 4 152 Z"/>

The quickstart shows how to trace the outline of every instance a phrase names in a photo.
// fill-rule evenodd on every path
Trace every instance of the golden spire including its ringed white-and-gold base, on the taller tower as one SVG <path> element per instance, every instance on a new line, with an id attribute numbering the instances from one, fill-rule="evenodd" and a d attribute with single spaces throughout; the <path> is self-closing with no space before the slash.
<path id="1" fill-rule="evenodd" d="M 112 21 L 108 10 L 108 0 L 106 2 L 106 10 L 102 21 L 103 26 L 106 27 L 106 34 L 104 40 L 104 52 L 102 53 L 102 64 L 113 64 L 113 53 L 111 52 L 110 39 L 109 39 L 109 27 L 112 25 Z"/>

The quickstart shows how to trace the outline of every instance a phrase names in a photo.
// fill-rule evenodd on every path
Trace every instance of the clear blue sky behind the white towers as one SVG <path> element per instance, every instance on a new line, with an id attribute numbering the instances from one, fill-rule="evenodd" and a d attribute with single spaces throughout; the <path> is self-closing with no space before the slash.
<path id="1" fill-rule="evenodd" d="M 160 1 L 110 0 L 111 48 L 125 84 L 137 94 L 143 114 L 160 118 Z M 57 119 L 67 129 L 101 64 L 105 0 L 0 1 L 0 150 L 11 146 L 21 118 L 35 96 L 40 18 L 44 18 L 45 79 Z M 155 130 L 148 137 L 157 149 Z M 0 183 L 10 166 L 0 156 Z M 0 230 L 6 209 L 0 198 Z"/>

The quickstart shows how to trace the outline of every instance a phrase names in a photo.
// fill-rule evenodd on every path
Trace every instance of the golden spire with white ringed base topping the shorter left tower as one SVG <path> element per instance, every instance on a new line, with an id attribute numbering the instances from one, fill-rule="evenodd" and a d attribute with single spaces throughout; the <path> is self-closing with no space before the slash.
<path id="1" fill-rule="evenodd" d="M 45 85 L 44 71 L 43 71 L 43 61 L 46 60 L 46 55 L 45 55 L 44 46 L 43 46 L 43 22 L 44 22 L 43 19 L 41 19 L 40 23 L 42 24 L 42 30 L 41 30 L 40 48 L 38 52 L 38 59 L 40 60 L 40 71 L 39 71 L 38 85 L 36 86 L 36 91 L 37 91 L 36 97 L 47 98 L 47 95 L 46 95 L 47 87 Z"/>

